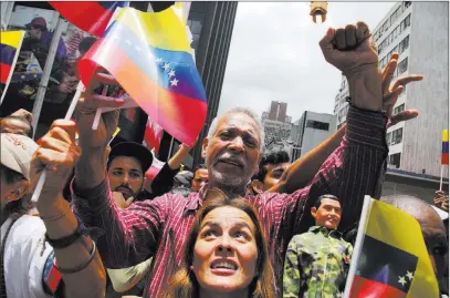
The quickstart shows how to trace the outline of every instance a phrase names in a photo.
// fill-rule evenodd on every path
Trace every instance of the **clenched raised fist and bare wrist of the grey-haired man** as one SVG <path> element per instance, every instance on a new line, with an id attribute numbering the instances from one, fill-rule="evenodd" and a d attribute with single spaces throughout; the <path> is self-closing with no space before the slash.
<path id="1" fill-rule="evenodd" d="M 381 111 L 381 73 L 367 24 L 329 28 L 320 45 L 325 60 L 347 78 L 350 102 L 360 109 Z"/>

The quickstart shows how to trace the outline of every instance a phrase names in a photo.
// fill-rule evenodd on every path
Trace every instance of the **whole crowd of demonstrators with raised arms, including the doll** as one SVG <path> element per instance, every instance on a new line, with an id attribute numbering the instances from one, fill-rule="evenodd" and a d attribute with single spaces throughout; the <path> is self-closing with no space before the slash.
<path id="1" fill-rule="evenodd" d="M 4 296 L 341 297 L 365 195 L 419 222 L 448 296 L 444 223 L 420 198 L 381 196 L 386 129 L 417 116 L 393 115 L 393 106 L 420 76 L 391 84 L 398 54 L 380 71 L 364 22 L 328 29 L 320 47 L 347 78 L 347 123 L 292 164 L 285 152 L 263 154 L 263 127 L 245 107 L 212 121 L 201 140 L 205 164 L 180 171 L 190 151 L 181 145 L 153 179 L 146 173 L 154 155 L 145 146 L 108 146 L 118 111 L 92 130 L 96 109 L 119 107 L 121 100 L 85 92 L 77 140 L 73 121 L 56 120 L 35 143 L 30 113 L 1 119 Z M 113 81 L 97 74 L 87 90 Z M 443 196 L 436 204 L 443 206 Z"/>

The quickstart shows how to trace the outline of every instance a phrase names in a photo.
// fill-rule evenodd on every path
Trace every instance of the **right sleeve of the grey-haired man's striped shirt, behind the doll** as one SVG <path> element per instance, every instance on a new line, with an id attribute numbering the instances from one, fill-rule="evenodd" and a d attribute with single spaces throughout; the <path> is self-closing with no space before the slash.
<path id="1" fill-rule="evenodd" d="M 323 163 L 311 185 L 281 197 L 291 237 L 314 225 L 310 210 L 321 195 L 332 194 L 341 199 L 341 230 L 359 219 L 365 195 L 380 196 L 388 153 L 386 122 L 381 113 L 350 105 L 339 147 Z"/>

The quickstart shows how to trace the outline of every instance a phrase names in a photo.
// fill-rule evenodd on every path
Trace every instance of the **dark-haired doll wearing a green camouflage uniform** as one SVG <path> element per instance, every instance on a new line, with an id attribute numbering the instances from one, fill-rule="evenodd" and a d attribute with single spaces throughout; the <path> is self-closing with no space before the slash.
<path id="1" fill-rule="evenodd" d="M 315 226 L 294 236 L 287 246 L 283 298 L 341 297 L 345 288 L 353 247 L 337 230 L 339 199 L 322 195 L 311 214 Z"/>

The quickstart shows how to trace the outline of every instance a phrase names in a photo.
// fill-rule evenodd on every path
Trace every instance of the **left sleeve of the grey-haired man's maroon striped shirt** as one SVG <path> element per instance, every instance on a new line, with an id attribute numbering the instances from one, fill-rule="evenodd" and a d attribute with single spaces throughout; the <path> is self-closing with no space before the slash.
<path id="1" fill-rule="evenodd" d="M 92 189 L 77 189 L 72 183 L 74 212 L 79 218 L 100 236 L 97 249 L 105 267 L 132 267 L 150 258 L 164 229 L 170 199 L 133 203 L 127 209 L 117 208 L 106 178 Z M 95 238 L 95 237 L 93 237 Z"/>

